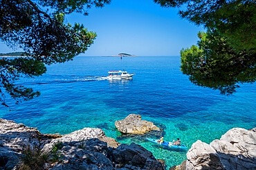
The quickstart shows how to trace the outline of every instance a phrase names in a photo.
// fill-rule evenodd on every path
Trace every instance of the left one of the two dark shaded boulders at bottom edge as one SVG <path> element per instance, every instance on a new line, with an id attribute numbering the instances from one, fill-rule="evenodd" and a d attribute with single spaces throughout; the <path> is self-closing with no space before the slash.
<path id="1" fill-rule="evenodd" d="M 91 138 L 83 142 L 66 142 L 57 150 L 60 155 L 53 169 L 113 169 L 113 164 L 107 158 L 107 143 Z M 59 162 L 63 162 L 60 164 Z"/>

